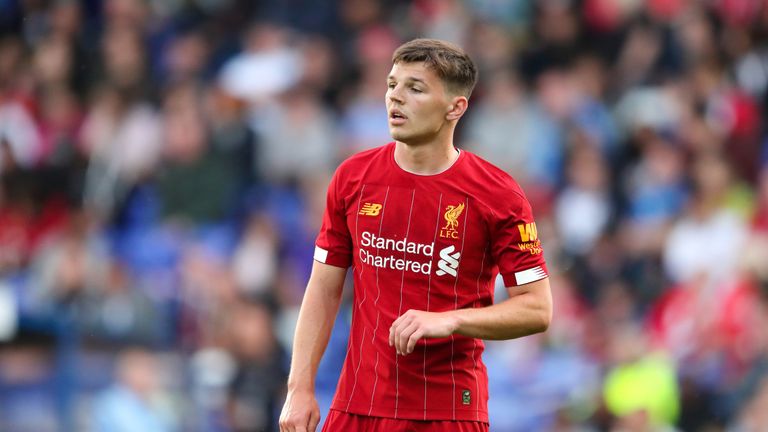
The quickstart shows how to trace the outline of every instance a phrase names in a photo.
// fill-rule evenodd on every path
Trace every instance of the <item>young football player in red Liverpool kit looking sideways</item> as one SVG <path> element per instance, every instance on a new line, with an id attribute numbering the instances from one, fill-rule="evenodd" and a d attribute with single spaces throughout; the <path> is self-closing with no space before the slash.
<path id="1" fill-rule="evenodd" d="M 487 431 L 481 339 L 546 330 L 547 269 L 515 181 L 456 149 L 477 70 L 458 47 L 417 39 L 387 78 L 395 139 L 345 161 L 328 187 L 280 417 L 314 431 L 317 367 L 354 273 L 352 330 L 326 431 Z M 493 304 L 501 273 L 510 298 Z"/>

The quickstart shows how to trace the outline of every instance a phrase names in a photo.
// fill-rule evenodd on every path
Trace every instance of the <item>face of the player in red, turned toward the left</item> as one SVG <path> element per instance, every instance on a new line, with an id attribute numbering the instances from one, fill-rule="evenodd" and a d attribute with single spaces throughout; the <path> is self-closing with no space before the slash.
<path id="1" fill-rule="evenodd" d="M 448 129 L 451 100 L 440 77 L 424 63 L 396 63 L 387 77 L 389 133 L 406 144 L 434 140 Z"/>

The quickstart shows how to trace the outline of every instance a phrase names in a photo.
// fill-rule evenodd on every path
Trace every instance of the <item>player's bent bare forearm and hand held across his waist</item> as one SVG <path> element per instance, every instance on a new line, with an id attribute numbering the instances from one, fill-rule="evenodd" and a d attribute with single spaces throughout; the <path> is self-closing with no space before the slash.
<path id="1" fill-rule="evenodd" d="M 552 320 L 549 278 L 507 288 L 509 298 L 483 308 L 446 312 L 411 309 L 389 329 L 389 344 L 400 355 L 410 354 L 421 338 L 460 334 L 479 339 L 504 340 L 540 333 Z"/>

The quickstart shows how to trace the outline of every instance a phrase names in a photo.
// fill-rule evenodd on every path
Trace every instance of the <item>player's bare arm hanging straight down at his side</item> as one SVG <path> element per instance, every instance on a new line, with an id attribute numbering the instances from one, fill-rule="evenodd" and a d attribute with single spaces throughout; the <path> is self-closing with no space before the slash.
<path id="1" fill-rule="evenodd" d="M 320 422 L 315 376 L 341 303 L 347 269 L 315 261 L 293 339 L 288 395 L 280 432 L 314 431 Z"/>

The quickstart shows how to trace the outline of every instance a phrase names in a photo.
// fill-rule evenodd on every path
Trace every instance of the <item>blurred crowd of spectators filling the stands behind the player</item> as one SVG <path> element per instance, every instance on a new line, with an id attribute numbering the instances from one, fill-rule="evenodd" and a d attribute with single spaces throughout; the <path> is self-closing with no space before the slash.
<path id="1" fill-rule="evenodd" d="M 549 331 L 487 344 L 491 430 L 768 430 L 765 0 L 0 0 L 0 430 L 276 430 L 413 37 L 477 62 L 456 144 L 552 273 Z"/>

